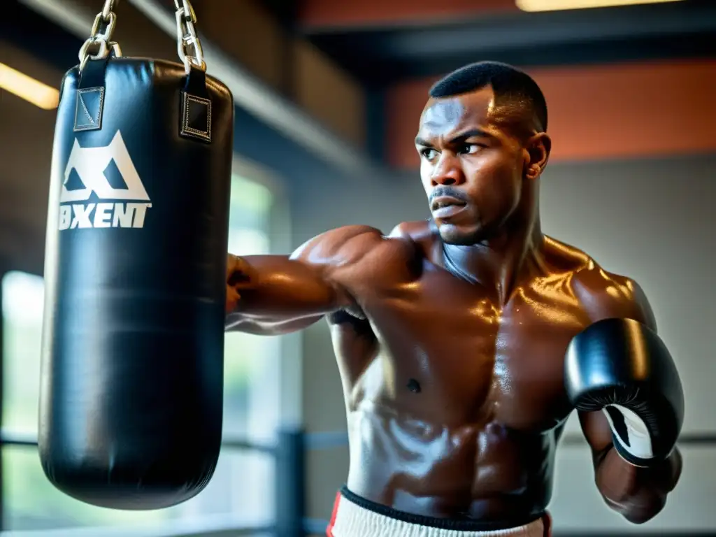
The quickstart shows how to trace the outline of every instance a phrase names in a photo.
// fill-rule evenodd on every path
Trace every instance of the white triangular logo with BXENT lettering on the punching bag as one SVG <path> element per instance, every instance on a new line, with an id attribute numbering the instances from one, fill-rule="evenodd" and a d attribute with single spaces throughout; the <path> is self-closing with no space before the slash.
<path id="1" fill-rule="evenodd" d="M 112 185 L 110 178 L 124 184 Z M 99 203 L 88 203 L 92 193 Z M 105 147 L 80 147 L 75 138 L 59 195 L 61 231 L 142 228 L 150 202 L 119 131 Z"/>

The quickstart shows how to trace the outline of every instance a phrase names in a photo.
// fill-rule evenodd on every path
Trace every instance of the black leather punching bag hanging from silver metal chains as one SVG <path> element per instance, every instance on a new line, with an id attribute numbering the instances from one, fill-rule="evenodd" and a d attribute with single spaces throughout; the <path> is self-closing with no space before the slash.
<path id="1" fill-rule="evenodd" d="M 199 52 L 118 57 L 107 4 L 57 112 L 39 453 L 78 500 L 155 509 L 203 490 L 221 445 L 233 101 Z"/>

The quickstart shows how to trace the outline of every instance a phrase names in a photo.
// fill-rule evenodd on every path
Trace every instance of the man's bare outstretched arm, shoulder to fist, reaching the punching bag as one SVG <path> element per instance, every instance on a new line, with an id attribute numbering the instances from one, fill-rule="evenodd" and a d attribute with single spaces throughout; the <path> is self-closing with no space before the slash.
<path id="1" fill-rule="evenodd" d="M 346 226 L 312 238 L 291 256 L 230 255 L 226 330 L 285 334 L 350 306 L 345 282 L 382 241 L 377 229 Z"/>

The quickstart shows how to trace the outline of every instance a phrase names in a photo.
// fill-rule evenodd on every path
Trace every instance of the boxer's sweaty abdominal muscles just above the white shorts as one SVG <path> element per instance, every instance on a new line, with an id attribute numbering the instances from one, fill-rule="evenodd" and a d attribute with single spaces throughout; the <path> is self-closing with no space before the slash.
<path id="1" fill-rule="evenodd" d="M 543 435 L 494 421 L 435 425 L 370 401 L 349 413 L 348 425 L 347 487 L 367 500 L 477 521 L 539 516 L 548 501 L 551 442 Z"/>

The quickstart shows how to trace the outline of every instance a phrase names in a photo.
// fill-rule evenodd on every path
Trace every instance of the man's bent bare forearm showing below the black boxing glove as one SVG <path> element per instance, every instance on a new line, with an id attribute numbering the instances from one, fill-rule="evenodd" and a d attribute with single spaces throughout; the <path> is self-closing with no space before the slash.
<path id="1" fill-rule="evenodd" d="M 596 463 L 596 485 L 607 505 L 633 523 L 644 523 L 662 511 L 679 480 L 681 453 L 652 468 L 639 468 L 609 448 Z"/>

